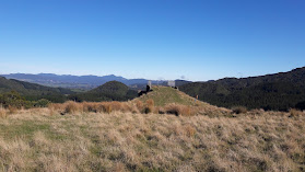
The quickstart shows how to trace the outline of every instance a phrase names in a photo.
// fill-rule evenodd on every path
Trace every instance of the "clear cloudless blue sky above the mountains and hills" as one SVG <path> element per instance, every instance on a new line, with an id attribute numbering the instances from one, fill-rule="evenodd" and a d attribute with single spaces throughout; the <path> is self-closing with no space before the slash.
<path id="1" fill-rule="evenodd" d="M 304 0 L 0 0 L 0 73 L 206 81 L 303 66 Z"/>

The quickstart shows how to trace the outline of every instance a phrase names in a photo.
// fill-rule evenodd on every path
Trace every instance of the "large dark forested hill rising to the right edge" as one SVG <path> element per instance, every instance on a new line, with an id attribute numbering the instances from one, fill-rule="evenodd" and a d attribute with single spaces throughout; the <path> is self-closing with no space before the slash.
<path id="1" fill-rule="evenodd" d="M 243 105 L 248 108 L 304 110 L 305 67 L 260 77 L 193 82 L 179 87 L 179 90 L 224 107 Z"/>

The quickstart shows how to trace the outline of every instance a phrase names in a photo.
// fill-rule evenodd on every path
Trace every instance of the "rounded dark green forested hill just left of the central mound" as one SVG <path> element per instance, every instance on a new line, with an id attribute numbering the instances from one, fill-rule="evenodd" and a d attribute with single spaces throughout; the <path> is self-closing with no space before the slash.
<path id="1" fill-rule="evenodd" d="M 77 102 L 128 101 L 137 95 L 137 91 L 129 90 L 126 84 L 118 81 L 109 81 L 87 92 L 70 95 L 69 99 Z"/>

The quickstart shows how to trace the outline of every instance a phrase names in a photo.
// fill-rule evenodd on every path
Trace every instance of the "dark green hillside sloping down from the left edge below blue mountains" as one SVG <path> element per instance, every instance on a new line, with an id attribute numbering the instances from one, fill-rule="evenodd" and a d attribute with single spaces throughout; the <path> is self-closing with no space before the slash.
<path id="1" fill-rule="evenodd" d="M 52 102 L 63 102 L 66 100 L 64 94 L 73 93 L 68 89 L 49 88 L 13 79 L 9 80 L 0 77 L 0 94 L 10 91 L 16 91 L 30 101 L 47 99 Z"/>

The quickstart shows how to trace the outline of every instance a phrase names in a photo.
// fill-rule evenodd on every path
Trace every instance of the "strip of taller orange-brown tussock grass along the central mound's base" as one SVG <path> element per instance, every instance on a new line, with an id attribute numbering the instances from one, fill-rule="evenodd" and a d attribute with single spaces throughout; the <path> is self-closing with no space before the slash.
<path id="1" fill-rule="evenodd" d="M 177 103 L 171 103 L 165 106 L 155 106 L 153 99 L 149 99 L 145 102 L 140 100 L 130 102 L 66 102 L 62 104 L 49 104 L 48 106 L 51 115 L 55 114 L 83 114 L 83 113 L 108 113 L 124 112 L 124 113 L 159 113 L 159 114 L 174 114 L 176 116 L 192 116 L 192 115 L 225 115 L 231 111 L 226 108 L 220 108 L 212 105 L 184 105 Z"/>

